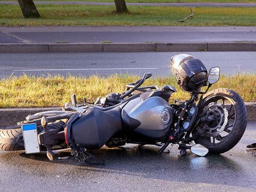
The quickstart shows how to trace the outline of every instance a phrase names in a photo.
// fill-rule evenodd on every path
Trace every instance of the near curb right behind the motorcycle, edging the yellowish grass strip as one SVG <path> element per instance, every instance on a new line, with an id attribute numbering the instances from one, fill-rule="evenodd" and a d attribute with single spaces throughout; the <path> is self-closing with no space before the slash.
<path id="1" fill-rule="evenodd" d="M 245 103 L 248 119 L 256 120 L 256 102 Z M 47 110 L 61 110 L 60 107 L 45 108 L 0 108 L 0 127 L 13 126 L 26 118 L 29 114 Z"/>

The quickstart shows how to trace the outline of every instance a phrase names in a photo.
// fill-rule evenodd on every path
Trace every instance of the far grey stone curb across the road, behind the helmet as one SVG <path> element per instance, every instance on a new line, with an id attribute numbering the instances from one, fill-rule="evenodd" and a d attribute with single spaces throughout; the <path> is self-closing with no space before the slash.
<path id="1" fill-rule="evenodd" d="M 256 51 L 256 42 L 0 44 L 0 53 Z"/>

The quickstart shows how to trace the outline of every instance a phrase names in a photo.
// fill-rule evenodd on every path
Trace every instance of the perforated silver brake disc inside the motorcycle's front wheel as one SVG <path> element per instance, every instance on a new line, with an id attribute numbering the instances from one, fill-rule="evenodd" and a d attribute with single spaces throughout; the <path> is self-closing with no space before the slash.
<path id="1" fill-rule="evenodd" d="M 211 102 L 204 107 L 204 116 L 214 115 L 215 120 L 204 125 L 204 131 L 208 137 L 216 137 L 228 124 L 228 110 L 220 102 Z"/>

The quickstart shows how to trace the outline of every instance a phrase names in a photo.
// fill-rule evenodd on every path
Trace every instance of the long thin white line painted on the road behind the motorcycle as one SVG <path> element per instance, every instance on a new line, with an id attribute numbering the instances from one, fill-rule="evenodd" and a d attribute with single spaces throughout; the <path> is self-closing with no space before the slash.
<path id="1" fill-rule="evenodd" d="M 143 69 L 159 69 L 159 68 L 105 68 L 105 69 L 16 69 L 13 72 L 44 72 L 44 71 L 58 71 L 58 70 L 143 70 Z"/>

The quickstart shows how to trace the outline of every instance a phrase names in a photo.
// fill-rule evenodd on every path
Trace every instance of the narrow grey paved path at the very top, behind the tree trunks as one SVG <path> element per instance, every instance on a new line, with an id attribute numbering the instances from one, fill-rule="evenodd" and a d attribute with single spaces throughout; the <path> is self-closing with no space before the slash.
<path id="1" fill-rule="evenodd" d="M 114 5 L 114 2 L 85 2 L 85 1 L 34 1 L 35 4 L 56 5 Z M 18 4 L 16 1 L 0 1 L 1 4 Z M 256 3 L 126 3 L 127 6 L 175 6 L 175 7 L 256 7 Z"/>

